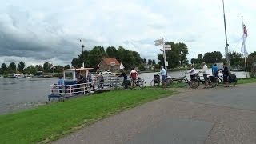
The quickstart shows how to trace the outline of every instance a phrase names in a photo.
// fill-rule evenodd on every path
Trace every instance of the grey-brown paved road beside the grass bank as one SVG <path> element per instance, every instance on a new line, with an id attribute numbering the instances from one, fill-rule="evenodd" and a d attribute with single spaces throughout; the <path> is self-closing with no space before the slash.
<path id="1" fill-rule="evenodd" d="M 53 143 L 256 143 L 256 84 L 186 90 Z"/>

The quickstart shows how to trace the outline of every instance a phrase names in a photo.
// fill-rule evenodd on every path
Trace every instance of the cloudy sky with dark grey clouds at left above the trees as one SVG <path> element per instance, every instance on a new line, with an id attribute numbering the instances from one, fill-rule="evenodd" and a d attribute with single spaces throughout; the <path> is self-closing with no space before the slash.
<path id="1" fill-rule="evenodd" d="M 256 1 L 226 0 L 230 50 L 240 51 L 242 21 L 247 50 L 255 51 Z M 124 46 L 142 58 L 160 53 L 154 40 L 185 42 L 188 58 L 219 50 L 224 54 L 222 0 L 1 0 L 0 64 L 70 64 L 93 46 Z"/>

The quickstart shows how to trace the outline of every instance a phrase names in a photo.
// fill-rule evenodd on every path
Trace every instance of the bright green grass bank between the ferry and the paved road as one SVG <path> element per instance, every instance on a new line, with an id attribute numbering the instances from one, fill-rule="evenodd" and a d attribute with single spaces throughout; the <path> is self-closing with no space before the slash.
<path id="1" fill-rule="evenodd" d="M 170 90 L 113 90 L 0 116 L 1 143 L 48 142 L 142 103 L 174 94 Z"/>

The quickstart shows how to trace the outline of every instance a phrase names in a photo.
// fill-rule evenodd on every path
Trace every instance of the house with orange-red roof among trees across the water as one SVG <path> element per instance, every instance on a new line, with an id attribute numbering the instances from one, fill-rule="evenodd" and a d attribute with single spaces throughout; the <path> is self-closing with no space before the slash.
<path id="1" fill-rule="evenodd" d="M 120 70 L 120 63 L 116 58 L 103 58 L 99 63 L 99 70 L 116 72 Z"/>

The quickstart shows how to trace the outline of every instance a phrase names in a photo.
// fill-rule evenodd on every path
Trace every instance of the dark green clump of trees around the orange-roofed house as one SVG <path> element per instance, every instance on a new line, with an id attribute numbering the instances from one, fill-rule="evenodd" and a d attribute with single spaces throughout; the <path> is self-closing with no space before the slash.
<path id="1" fill-rule="evenodd" d="M 95 71 L 102 58 L 116 58 L 118 62 L 122 62 L 125 70 L 131 70 L 134 67 L 143 70 L 145 65 L 156 65 L 155 60 L 148 59 L 146 61 L 146 58 L 141 58 L 137 51 L 126 50 L 122 46 L 118 46 L 118 49 L 114 46 L 109 46 L 106 50 L 103 46 L 94 46 L 92 50 L 85 50 L 78 55 L 78 58 L 73 58 L 71 64 L 78 68 L 84 63 L 86 67 L 92 67 Z"/>

